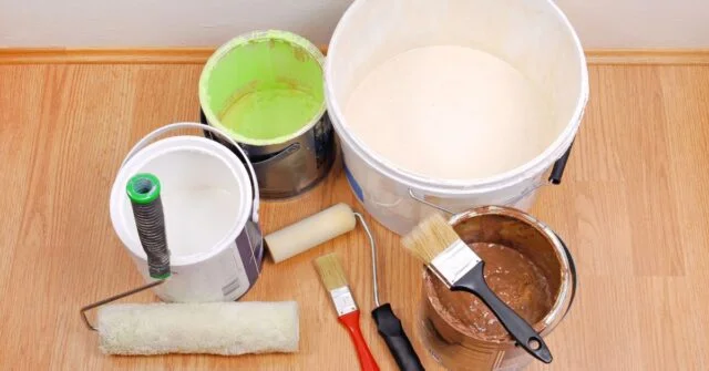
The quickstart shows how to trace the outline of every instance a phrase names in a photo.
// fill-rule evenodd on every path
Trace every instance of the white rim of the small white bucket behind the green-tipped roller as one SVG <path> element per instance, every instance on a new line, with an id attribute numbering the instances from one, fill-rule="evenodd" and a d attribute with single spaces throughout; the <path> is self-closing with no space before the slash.
<path id="1" fill-rule="evenodd" d="M 119 236 L 124 247 L 135 257 L 143 260 L 147 259 L 145 251 L 142 248 L 141 241 L 132 237 L 129 231 L 129 226 L 125 224 L 126 215 L 124 213 L 122 203 L 124 202 L 125 185 L 122 181 L 130 178 L 130 169 L 138 171 L 146 163 L 164 155 L 168 155 L 175 152 L 199 152 L 203 154 L 216 155 L 215 157 L 222 162 L 232 173 L 235 182 L 239 185 L 250 184 L 246 168 L 240 161 L 230 153 L 225 146 L 217 144 L 204 137 L 194 135 L 178 135 L 162 138 L 155 141 L 144 148 L 135 153 L 122 167 L 119 168 L 113 182 L 110 196 L 110 214 L 111 223 L 115 234 Z M 239 206 L 236 213 L 235 221 L 232 227 L 224 233 L 223 237 L 208 247 L 208 249 L 189 254 L 189 255 L 174 255 L 171 254 L 171 266 L 185 267 L 192 266 L 199 261 L 208 260 L 212 257 L 220 254 L 224 248 L 229 244 L 235 243 L 239 233 L 246 227 L 246 223 L 250 218 L 251 204 L 254 203 L 251 187 L 239 186 L 238 197 Z M 169 247 L 168 247 L 169 248 Z"/>

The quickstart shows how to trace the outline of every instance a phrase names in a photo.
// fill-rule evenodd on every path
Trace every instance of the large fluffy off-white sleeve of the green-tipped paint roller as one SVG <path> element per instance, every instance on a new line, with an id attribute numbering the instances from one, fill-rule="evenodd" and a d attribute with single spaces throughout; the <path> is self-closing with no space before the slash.
<path id="1" fill-rule="evenodd" d="M 298 303 L 110 305 L 99 309 L 106 354 L 296 352 Z"/>

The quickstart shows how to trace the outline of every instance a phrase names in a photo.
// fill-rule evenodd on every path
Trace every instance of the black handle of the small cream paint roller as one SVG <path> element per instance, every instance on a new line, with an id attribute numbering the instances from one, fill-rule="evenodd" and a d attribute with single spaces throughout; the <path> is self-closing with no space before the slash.
<path id="1" fill-rule="evenodd" d="M 379 334 L 387 342 L 391 355 L 394 357 L 399 370 L 401 371 L 423 371 L 424 368 L 417 355 L 411 341 L 403 331 L 401 321 L 391 310 L 391 306 L 386 303 L 372 310 L 372 317 L 377 322 Z"/>

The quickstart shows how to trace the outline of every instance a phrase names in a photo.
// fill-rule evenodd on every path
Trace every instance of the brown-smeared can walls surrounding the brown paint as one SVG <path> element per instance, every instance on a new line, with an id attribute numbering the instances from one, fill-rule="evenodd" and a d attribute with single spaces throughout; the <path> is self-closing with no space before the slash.
<path id="1" fill-rule="evenodd" d="M 466 244 L 502 245 L 516 250 L 536 267 L 535 270 L 543 275 L 540 285 L 545 285 L 549 301 L 544 311 L 528 315 L 537 318 L 525 319 L 543 337 L 549 334 L 568 312 L 576 291 L 576 270 L 564 241 L 536 218 L 510 207 L 474 208 L 453 216 L 449 223 Z M 485 266 L 486 276 L 487 269 L 491 266 Z M 472 330 L 472 322 L 461 316 L 458 300 L 474 299 L 456 296 L 470 293 L 442 290 L 438 278 L 428 270 L 423 274 L 422 291 L 420 326 L 423 343 L 443 367 L 449 370 L 520 370 L 533 361 L 508 336 L 486 337 Z M 508 297 L 496 293 L 510 305 Z"/>

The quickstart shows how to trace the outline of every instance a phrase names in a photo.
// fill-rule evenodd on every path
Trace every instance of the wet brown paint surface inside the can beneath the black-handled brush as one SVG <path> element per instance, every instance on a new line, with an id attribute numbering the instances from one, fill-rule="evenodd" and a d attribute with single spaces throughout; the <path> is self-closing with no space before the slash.
<path id="1" fill-rule="evenodd" d="M 530 323 L 541 321 L 553 306 L 549 285 L 528 258 L 499 244 L 475 243 L 472 249 L 485 261 L 484 276 L 490 288 Z M 432 279 L 435 295 L 454 321 L 482 340 L 510 339 L 495 315 L 476 296 L 453 292 Z"/>

